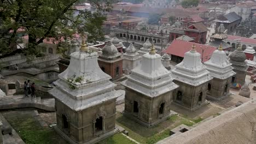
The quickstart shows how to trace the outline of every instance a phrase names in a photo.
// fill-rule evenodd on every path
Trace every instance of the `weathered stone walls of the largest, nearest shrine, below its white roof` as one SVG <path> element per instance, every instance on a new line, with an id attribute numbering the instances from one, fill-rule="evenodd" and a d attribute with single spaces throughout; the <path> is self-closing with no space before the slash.
<path id="1" fill-rule="evenodd" d="M 82 143 L 89 141 L 115 128 L 115 99 L 79 112 L 71 110 L 59 100 L 55 100 L 55 105 L 57 127 L 65 131 L 62 124 L 62 115 L 66 115 L 70 125 L 70 132 L 66 132 L 66 135 L 76 142 Z M 103 117 L 103 131 L 101 133 L 95 133 L 94 123 L 96 118 L 100 116 Z"/>

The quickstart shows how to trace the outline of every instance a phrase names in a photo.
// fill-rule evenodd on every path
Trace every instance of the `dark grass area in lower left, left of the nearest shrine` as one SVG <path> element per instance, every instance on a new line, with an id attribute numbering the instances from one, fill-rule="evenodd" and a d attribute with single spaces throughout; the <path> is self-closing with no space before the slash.
<path id="1" fill-rule="evenodd" d="M 43 128 L 31 113 L 6 113 L 4 117 L 26 144 L 68 144 L 53 129 Z"/>

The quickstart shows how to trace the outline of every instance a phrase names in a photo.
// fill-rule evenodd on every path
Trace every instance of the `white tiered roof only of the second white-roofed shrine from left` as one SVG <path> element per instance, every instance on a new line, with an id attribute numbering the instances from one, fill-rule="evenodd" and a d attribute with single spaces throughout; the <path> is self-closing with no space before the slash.
<path id="1" fill-rule="evenodd" d="M 141 64 L 121 83 L 148 97 L 158 97 L 178 87 L 172 80 L 171 72 L 161 63 L 161 56 L 152 49 L 143 55 Z"/>

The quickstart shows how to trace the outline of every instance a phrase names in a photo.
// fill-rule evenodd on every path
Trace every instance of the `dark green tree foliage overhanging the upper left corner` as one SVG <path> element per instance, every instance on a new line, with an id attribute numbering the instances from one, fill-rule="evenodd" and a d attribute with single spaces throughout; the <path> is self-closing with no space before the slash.
<path id="1" fill-rule="evenodd" d="M 37 46 L 49 37 L 60 40 L 72 34 L 88 34 L 89 41 L 103 39 L 102 23 L 114 0 L 2 0 L 0 2 L 0 53 L 16 46 L 17 31 L 28 35 L 26 55 L 38 53 Z M 87 2 L 92 10 L 75 9 L 74 3 Z M 13 33 L 9 33 L 12 30 Z M 54 41 L 53 41 L 54 42 Z"/>

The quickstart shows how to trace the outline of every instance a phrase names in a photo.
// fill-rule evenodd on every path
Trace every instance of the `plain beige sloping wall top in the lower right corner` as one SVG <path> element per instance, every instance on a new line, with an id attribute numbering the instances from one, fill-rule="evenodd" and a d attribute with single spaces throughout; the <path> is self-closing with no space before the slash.
<path id="1" fill-rule="evenodd" d="M 255 123 L 256 100 L 251 100 L 183 134 L 167 137 L 158 144 L 254 144 Z"/>

